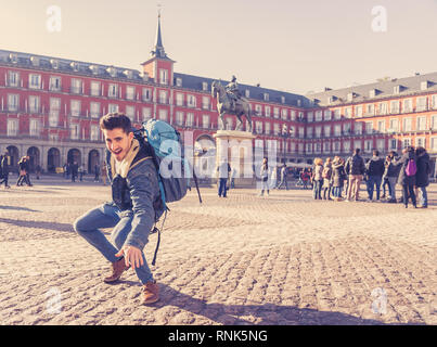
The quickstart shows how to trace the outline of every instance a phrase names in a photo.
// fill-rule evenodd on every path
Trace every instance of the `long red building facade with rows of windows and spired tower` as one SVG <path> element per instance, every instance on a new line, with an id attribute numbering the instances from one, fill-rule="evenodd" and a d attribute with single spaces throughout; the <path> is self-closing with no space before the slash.
<path id="1" fill-rule="evenodd" d="M 76 160 L 91 171 L 103 159 L 99 118 L 108 112 L 125 113 L 137 127 L 153 117 L 167 120 L 182 138 L 190 132 L 197 151 L 214 149 L 213 79 L 176 73 L 173 65 L 159 18 L 155 47 L 140 70 L 0 50 L 0 151 L 8 149 L 14 166 L 29 155 L 31 168 L 54 171 Z M 279 162 L 412 144 L 425 146 L 435 167 L 437 73 L 310 95 L 239 87 L 250 103 L 254 146 L 275 140 Z M 234 117 L 226 121 L 234 129 Z"/>

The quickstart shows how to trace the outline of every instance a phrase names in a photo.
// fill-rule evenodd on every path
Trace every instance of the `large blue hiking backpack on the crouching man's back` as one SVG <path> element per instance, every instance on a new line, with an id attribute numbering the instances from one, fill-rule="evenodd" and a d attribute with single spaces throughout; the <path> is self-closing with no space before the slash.
<path id="1" fill-rule="evenodd" d="M 167 203 L 180 201 L 187 195 L 187 190 L 191 189 L 191 174 L 196 185 L 198 200 L 202 204 L 197 178 L 194 170 L 191 172 L 188 160 L 182 157 L 179 131 L 168 123 L 158 119 L 149 119 L 144 121 L 142 127 L 134 131 L 133 134 L 140 142 L 140 145 L 145 146 L 147 153 L 151 153 L 152 160 L 157 171 L 160 198 L 165 209 L 165 217 L 160 227 L 160 229 L 163 229 L 167 210 L 169 210 Z M 158 233 L 158 241 L 152 265 L 155 265 L 156 254 L 160 243 L 160 231 L 156 226 L 151 233 L 155 232 Z"/>

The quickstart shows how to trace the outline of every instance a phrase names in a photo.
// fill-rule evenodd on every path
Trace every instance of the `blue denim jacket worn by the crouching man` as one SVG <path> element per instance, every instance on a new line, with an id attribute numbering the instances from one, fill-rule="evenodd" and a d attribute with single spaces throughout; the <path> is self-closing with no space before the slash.
<path id="1" fill-rule="evenodd" d="M 146 153 L 140 150 L 133 158 L 126 185 L 129 194 L 124 194 L 124 205 L 128 206 L 121 210 L 121 218 L 132 218 L 131 231 L 125 245 L 142 249 L 147 243 L 149 232 L 154 223 L 163 215 L 160 191 L 158 185 L 157 171 L 152 158 L 145 158 Z M 145 158 L 145 159 L 144 159 Z M 113 187 L 113 174 L 111 168 L 111 152 L 106 150 L 107 176 Z M 127 201 L 129 200 L 129 201 Z M 113 205 L 117 205 L 114 202 Z"/>

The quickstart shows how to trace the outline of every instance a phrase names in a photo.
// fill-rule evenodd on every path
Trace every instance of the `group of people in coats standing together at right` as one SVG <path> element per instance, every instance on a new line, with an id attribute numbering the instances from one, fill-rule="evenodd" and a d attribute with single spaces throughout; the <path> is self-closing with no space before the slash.
<path id="1" fill-rule="evenodd" d="M 335 156 L 333 160 L 326 158 L 324 163 L 321 158 L 314 159 L 311 177 L 313 198 L 342 201 L 345 188 L 347 202 L 359 201 L 360 185 L 364 181 L 368 202 L 372 202 L 376 193 L 375 198 L 378 202 L 386 198 L 387 203 L 397 203 L 396 184 L 399 184 L 402 188 L 401 202 L 406 207 L 411 200 L 415 208 L 427 208 L 426 187 L 429 184 L 429 155 L 424 147 L 408 146 L 402 150 L 401 156 L 390 152 L 385 158 L 374 150 L 372 158 L 367 163 L 360 155 L 360 150 L 356 149 L 346 162 L 339 156 Z"/>

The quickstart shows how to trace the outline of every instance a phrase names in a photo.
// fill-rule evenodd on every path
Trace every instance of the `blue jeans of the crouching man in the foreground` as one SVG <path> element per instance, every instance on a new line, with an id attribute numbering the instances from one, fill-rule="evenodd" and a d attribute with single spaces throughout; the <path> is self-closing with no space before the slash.
<path id="1" fill-rule="evenodd" d="M 103 204 L 95 207 L 83 216 L 76 219 L 74 228 L 76 232 L 94 246 L 111 262 L 120 258 L 115 255 L 121 249 L 129 232 L 131 231 L 133 214 L 131 211 L 120 211 L 117 206 Z M 100 228 L 114 228 L 111 239 L 115 246 L 99 230 Z M 142 249 L 141 249 L 142 250 Z M 136 268 L 138 279 L 142 284 L 153 281 L 152 272 L 142 252 L 143 265 Z"/>

